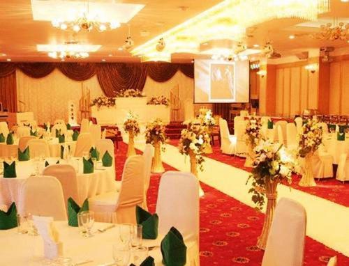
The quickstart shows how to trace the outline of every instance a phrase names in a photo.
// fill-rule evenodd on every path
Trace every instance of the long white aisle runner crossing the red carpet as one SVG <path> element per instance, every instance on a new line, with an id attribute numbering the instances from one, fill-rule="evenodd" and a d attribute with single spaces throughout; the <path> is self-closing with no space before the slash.
<path id="1" fill-rule="evenodd" d="M 124 136 L 124 140 L 127 141 L 127 136 Z M 143 150 L 144 141 L 137 141 L 135 148 Z M 181 155 L 177 147 L 166 145 L 166 150 L 161 156 L 163 162 L 179 171 L 190 169 L 189 159 Z M 204 168 L 203 172 L 199 171 L 200 181 L 254 207 L 251 194 L 248 194 L 251 185 L 246 185 L 250 173 L 207 157 Z M 304 205 L 307 213 L 306 235 L 349 256 L 349 208 L 297 189 L 290 189 L 285 185 L 279 185 L 278 194 L 279 198 L 292 198 Z"/>

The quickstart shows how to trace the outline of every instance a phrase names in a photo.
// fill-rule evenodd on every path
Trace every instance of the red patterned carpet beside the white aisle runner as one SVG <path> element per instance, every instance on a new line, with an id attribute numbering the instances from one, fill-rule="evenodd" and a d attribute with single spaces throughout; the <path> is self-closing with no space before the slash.
<path id="1" fill-rule="evenodd" d="M 139 152 L 139 151 L 138 151 Z M 126 145 L 120 143 L 116 152 L 117 180 L 121 178 Z M 230 157 L 231 158 L 231 157 Z M 165 169 L 175 170 L 164 164 Z M 149 211 L 154 212 L 161 175 L 152 174 L 148 191 Z M 201 184 L 205 196 L 200 198 L 200 262 L 201 266 L 260 265 L 263 251 L 254 245 L 264 214 Z M 349 258 L 306 237 L 304 265 L 326 265 L 332 256 L 338 256 L 339 265 L 349 265 Z M 281 266 L 281 265 L 280 265 Z"/>

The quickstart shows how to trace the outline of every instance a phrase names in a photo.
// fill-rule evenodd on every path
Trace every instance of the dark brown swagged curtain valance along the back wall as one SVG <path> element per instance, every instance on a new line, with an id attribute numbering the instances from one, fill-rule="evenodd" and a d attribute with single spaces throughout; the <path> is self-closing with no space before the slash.
<path id="1" fill-rule="evenodd" d="M 147 76 L 157 82 L 168 81 L 177 71 L 194 77 L 194 66 L 187 63 L 0 63 L 0 77 L 13 74 L 17 68 L 34 79 L 50 75 L 56 68 L 75 81 L 97 75 L 108 97 L 129 88 L 142 91 Z"/>

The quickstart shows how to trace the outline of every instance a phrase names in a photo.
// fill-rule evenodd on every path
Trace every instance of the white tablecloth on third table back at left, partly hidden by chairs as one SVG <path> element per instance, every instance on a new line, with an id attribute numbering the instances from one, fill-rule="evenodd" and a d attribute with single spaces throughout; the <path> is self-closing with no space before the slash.
<path id="1" fill-rule="evenodd" d="M 6 143 L 0 143 L 0 157 L 17 157 L 18 155 L 18 139 L 15 139 L 13 145 L 7 145 Z M 72 154 L 75 154 L 76 141 L 66 141 L 65 143 L 59 143 L 58 138 L 48 140 L 48 146 L 50 148 L 51 157 L 61 156 L 61 145 L 69 145 L 72 150 Z"/>

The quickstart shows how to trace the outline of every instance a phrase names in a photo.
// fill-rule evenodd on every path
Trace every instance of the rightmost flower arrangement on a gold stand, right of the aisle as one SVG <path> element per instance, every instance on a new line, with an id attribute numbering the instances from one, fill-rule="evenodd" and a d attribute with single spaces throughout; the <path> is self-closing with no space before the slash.
<path id="1" fill-rule="evenodd" d="M 318 150 L 322 143 L 322 127 L 318 120 L 308 119 L 303 125 L 303 133 L 299 136 L 299 156 L 306 157 Z"/>

